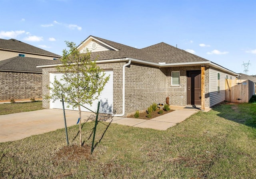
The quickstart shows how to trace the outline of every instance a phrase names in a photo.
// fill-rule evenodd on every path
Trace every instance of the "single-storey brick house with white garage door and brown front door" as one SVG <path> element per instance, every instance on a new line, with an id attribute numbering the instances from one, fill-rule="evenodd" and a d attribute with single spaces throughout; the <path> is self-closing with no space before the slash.
<path id="1" fill-rule="evenodd" d="M 225 79 L 238 74 L 216 63 L 166 43 L 137 49 L 99 37 L 89 36 L 78 50 L 92 51 L 91 59 L 110 75 L 99 100 L 100 112 L 127 116 L 136 110 L 145 110 L 152 103 L 196 106 L 204 110 L 225 100 Z M 43 96 L 50 94 L 46 87 L 62 77 L 56 73 L 53 61 L 43 68 Z M 92 108 L 96 110 L 94 102 Z M 44 108 L 62 108 L 60 101 L 43 98 Z M 70 108 L 72 109 L 72 108 Z M 84 108 L 86 111 L 86 109 Z"/>

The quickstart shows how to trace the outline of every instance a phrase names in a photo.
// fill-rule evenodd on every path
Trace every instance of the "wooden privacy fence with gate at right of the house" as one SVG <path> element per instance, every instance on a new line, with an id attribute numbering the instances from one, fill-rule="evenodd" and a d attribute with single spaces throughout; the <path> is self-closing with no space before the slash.
<path id="1" fill-rule="evenodd" d="M 255 94 L 255 84 L 250 80 L 226 79 L 225 100 L 228 102 L 249 102 Z"/>

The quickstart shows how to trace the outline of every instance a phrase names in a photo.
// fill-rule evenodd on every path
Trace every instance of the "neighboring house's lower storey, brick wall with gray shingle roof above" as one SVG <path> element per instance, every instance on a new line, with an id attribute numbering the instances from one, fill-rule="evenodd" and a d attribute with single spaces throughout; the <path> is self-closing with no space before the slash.
<path id="1" fill-rule="evenodd" d="M 0 101 L 42 99 L 42 68 L 52 60 L 13 57 L 0 61 Z"/>

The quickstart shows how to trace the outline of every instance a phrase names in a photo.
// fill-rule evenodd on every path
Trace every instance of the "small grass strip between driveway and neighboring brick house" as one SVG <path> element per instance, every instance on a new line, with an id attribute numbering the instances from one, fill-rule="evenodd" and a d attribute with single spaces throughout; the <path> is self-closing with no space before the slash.
<path id="1" fill-rule="evenodd" d="M 43 109 L 42 101 L 0 104 L 0 115 Z"/>

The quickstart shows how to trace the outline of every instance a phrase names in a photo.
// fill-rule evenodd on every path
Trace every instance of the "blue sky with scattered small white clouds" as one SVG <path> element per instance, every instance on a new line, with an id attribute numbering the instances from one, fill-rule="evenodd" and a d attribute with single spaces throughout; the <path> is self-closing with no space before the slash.
<path id="1" fill-rule="evenodd" d="M 136 48 L 165 42 L 256 75 L 255 0 L 0 0 L 0 38 L 62 55 L 94 35 Z"/>

